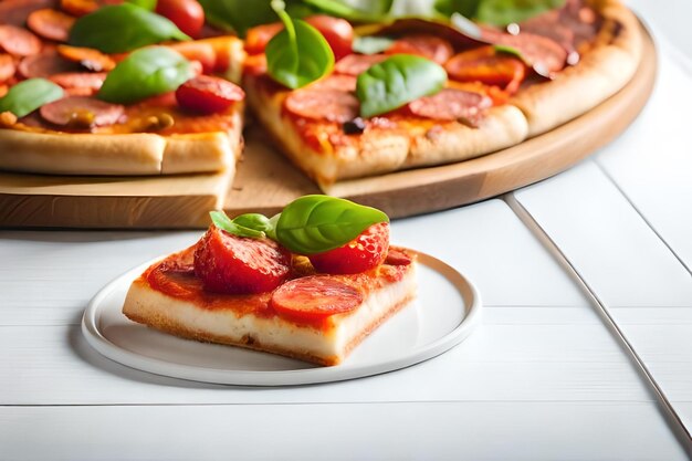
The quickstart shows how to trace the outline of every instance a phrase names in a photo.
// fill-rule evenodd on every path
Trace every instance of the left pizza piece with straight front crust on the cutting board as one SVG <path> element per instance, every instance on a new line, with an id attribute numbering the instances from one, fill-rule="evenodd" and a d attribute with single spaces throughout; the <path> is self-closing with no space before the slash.
<path id="1" fill-rule="evenodd" d="M 48 3 L 2 2 L 13 14 L 0 20 L 1 169 L 233 172 L 244 108 L 231 83 L 244 59 L 240 39 L 205 38 L 211 32 L 199 18 L 196 25 L 165 9 L 177 23 L 129 3 Z"/>

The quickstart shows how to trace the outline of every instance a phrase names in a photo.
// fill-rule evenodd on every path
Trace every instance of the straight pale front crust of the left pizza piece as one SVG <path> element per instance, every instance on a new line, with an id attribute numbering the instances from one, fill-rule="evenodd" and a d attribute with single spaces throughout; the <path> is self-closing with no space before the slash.
<path id="1" fill-rule="evenodd" d="M 231 168 L 242 147 L 242 105 L 228 133 L 64 134 L 0 129 L 0 169 L 49 175 L 147 176 Z"/>

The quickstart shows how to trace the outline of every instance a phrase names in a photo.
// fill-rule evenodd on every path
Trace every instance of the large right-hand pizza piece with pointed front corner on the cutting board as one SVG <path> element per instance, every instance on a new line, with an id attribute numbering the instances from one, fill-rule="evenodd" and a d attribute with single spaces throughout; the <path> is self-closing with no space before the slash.
<path id="1" fill-rule="evenodd" d="M 343 179 L 520 144 L 612 95 L 639 62 L 639 25 L 615 0 L 569 0 L 506 29 L 459 15 L 451 22 L 400 20 L 357 29 L 357 42 L 342 19 L 306 21 L 332 48 L 333 70 L 310 84 L 282 81 L 281 60 L 268 46 L 282 27 L 262 25 L 248 34 L 243 82 L 251 108 L 282 153 L 325 191 Z M 417 80 L 402 59 L 392 63 L 401 55 L 443 67 L 444 84 Z M 377 85 L 377 92 L 367 90 Z M 428 91 L 419 94 L 421 88 Z M 366 98 L 374 95 L 397 104 L 373 113 Z"/>

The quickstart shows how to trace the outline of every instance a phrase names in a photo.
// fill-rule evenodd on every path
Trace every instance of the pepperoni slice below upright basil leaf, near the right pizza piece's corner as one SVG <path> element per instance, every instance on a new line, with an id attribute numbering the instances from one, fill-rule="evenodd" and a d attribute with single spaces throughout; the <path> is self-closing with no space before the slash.
<path id="1" fill-rule="evenodd" d="M 298 117 L 344 123 L 358 116 L 359 104 L 349 92 L 304 88 L 291 93 L 284 107 Z"/>

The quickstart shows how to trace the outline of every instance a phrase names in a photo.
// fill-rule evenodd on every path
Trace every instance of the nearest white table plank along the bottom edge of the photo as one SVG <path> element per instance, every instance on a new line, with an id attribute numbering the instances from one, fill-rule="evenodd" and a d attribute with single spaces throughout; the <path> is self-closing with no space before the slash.
<path id="1" fill-rule="evenodd" d="M 0 447 L 17 461 L 686 459 L 637 402 L 6 407 Z"/>

